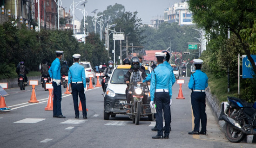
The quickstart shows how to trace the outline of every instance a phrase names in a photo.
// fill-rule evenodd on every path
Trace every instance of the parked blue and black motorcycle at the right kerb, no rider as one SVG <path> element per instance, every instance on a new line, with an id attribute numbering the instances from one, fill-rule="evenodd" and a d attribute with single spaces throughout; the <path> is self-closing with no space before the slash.
<path id="1" fill-rule="evenodd" d="M 220 117 L 226 122 L 224 131 L 230 142 L 241 142 L 246 135 L 256 135 L 256 102 L 228 97 L 227 108 L 222 109 Z"/>

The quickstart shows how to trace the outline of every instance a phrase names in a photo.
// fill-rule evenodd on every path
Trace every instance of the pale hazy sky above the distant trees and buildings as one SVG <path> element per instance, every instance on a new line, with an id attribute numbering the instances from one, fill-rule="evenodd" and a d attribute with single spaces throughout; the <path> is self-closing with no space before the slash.
<path id="1" fill-rule="evenodd" d="M 78 2 L 81 0 L 74 0 Z M 138 18 L 142 19 L 143 24 L 151 24 L 150 20 L 163 17 L 163 12 L 169 6 L 172 6 L 174 3 L 181 2 L 182 0 L 87 0 L 88 2 L 85 5 L 85 10 L 88 12 L 88 15 L 94 15 L 91 13 L 94 9 L 98 9 L 97 12 L 103 12 L 107 9 L 109 5 L 115 5 L 115 3 L 121 4 L 125 7 L 125 11 L 129 12 L 138 12 Z M 62 6 L 65 8 L 65 11 L 68 12 L 70 5 L 73 3 L 73 0 L 62 0 Z M 78 5 L 77 8 L 83 9 L 83 6 Z M 73 9 L 73 8 L 72 8 Z M 96 12 L 96 14 L 97 14 Z M 82 13 L 79 10 L 75 10 L 75 16 L 78 20 L 83 18 Z"/>

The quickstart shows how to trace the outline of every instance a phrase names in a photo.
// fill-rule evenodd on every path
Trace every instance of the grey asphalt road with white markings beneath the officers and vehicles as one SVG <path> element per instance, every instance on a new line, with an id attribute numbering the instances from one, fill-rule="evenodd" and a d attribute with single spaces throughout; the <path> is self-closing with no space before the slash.
<path id="1" fill-rule="evenodd" d="M 207 106 L 207 135 L 191 136 L 193 130 L 190 90 L 185 80 L 182 92 L 185 99 L 178 97 L 179 85 L 173 86 L 172 131 L 169 139 L 155 140 L 157 132 L 151 131 L 155 121 L 142 117 L 135 125 L 127 115 L 116 115 L 109 120 L 103 118 L 102 88 L 95 87 L 86 92 L 88 119 L 75 119 L 73 99 L 64 94 L 62 88 L 62 114 L 65 119 L 53 118 L 52 111 L 45 111 L 48 91 L 36 86 L 39 103 L 28 103 L 32 86 L 25 91 L 7 89 L 5 97 L 11 111 L 0 112 L 0 148 L 256 148 L 255 144 L 231 143 L 221 132 Z"/>

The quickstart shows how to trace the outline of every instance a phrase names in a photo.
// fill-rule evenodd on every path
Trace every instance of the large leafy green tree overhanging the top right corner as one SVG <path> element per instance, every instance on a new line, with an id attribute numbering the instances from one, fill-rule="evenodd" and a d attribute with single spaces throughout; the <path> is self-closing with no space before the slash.
<path id="1" fill-rule="evenodd" d="M 246 29 L 253 28 L 256 18 L 256 3 L 253 0 L 189 0 L 189 10 L 193 21 L 208 31 L 212 37 L 216 33 L 232 31 L 242 44 L 256 74 L 256 65 L 250 54 L 256 51 L 249 46 Z M 244 30 L 245 29 L 245 30 Z M 241 32 L 242 31 L 242 32 Z"/>

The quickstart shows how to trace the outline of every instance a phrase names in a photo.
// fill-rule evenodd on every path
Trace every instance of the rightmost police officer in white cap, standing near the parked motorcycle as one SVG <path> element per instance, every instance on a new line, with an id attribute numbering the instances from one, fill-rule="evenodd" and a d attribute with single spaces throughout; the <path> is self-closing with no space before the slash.
<path id="1" fill-rule="evenodd" d="M 205 88 L 208 87 L 208 77 L 205 73 L 201 71 L 202 60 L 194 59 L 193 63 L 195 64 L 195 73 L 191 74 L 189 80 L 189 89 L 192 90 L 191 93 L 191 105 L 193 114 L 195 117 L 194 130 L 189 132 L 190 135 L 206 135 L 206 123 L 207 117 L 205 113 Z M 201 131 L 199 132 L 201 120 Z"/>

